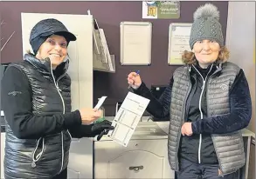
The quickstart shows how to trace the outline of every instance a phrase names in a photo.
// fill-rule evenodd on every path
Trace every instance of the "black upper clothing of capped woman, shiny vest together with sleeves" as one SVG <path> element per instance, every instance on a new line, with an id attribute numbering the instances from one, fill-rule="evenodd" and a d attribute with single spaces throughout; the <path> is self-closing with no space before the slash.
<path id="1" fill-rule="evenodd" d="M 56 176 L 66 169 L 71 137 L 92 135 L 90 125 L 81 125 L 80 112 L 71 112 L 67 64 L 51 70 L 49 61 L 25 55 L 23 62 L 12 63 L 5 71 L 5 178 Z"/>

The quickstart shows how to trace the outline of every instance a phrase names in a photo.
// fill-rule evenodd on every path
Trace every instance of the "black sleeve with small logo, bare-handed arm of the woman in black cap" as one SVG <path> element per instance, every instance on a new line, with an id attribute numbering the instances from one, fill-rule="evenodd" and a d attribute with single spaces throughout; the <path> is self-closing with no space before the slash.
<path id="1" fill-rule="evenodd" d="M 5 71 L 1 86 L 3 113 L 10 129 L 18 138 L 37 139 L 81 125 L 79 110 L 64 115 L 34 115 L 30 83 L 24 73 L 16 67 L 11 66 Z"/>

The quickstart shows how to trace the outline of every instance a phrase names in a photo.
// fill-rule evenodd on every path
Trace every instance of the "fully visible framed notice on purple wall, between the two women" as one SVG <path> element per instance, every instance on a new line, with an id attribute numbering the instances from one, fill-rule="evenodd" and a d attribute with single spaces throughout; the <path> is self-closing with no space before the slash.
<path id="1" fill-rule="evenodd" d="M 121 65 L 151 64 L 152 23 L 121 22 Z"/>

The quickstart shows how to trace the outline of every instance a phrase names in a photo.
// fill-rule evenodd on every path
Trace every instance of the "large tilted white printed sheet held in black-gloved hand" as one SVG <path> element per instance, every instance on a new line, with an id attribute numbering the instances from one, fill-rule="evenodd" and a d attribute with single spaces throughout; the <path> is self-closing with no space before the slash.
<path id="1" fill-rule="evenodd" d="M 128 92 L 116 116 L 114 116 L 112 122 L 114 129 L 110 130 L 107 136 L 114 142 L 127 147 L 148 105 L 149 99 Z"/>

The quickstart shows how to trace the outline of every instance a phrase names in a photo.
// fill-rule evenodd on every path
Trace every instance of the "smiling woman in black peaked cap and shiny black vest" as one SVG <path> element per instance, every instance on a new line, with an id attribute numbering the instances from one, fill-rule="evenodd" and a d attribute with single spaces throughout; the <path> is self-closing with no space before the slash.
<path id="1" fill-rule="evenodd" d="M 71 138 L 113 129 L 108 121 L 91 124 L 101 115 L 96 109 L 71 112 L 67 46 L 75 40 L 63 23 L 42 20 L 31 30 L 34 54 L 26 54 L 23 62 L 11 63 L 5 71 L 1 95 L 7 122 L 6 179 L 65 179 Z"/>

